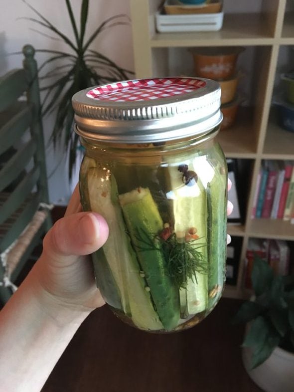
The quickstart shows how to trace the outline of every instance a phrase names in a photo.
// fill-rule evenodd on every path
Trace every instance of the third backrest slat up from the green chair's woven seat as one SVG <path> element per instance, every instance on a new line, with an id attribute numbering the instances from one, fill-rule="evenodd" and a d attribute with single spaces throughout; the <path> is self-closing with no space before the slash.
<path id="1" fill-rule="evenodd" d="M 30 140 L 9 159 L 0 171 L 0 192 L 3 191 L 19 175 L 36 151 L 36 143 Z"/>

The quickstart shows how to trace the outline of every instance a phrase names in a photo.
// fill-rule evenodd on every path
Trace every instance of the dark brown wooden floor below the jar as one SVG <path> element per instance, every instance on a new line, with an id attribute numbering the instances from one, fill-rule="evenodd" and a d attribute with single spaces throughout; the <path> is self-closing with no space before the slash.
<path id="1" fill-rule="evenodd" d="M 194 328 L 145 333 L 107 306 L 85 320 L 42 392 L 260 392 L 245 372 L 233 326 L 240 301 L 222 299 Z"/>

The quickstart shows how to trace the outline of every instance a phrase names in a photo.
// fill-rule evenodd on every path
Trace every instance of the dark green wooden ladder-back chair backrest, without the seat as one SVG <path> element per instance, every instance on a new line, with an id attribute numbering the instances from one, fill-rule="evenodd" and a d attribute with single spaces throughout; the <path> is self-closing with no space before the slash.
<path id="1" fill-rule="evenodd" d="M 48 203 L 34 52 L 25 45 L 23 68 L 0 77 L 0 253 L 21 234 L 39 203 Z"/>

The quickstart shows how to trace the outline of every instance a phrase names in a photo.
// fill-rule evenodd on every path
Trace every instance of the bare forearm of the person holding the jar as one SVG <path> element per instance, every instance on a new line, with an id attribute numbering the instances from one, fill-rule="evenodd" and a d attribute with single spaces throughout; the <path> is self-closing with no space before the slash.
<path id="1" fill-rule="evenodd" d="M 90 312 L 45 297 L 31 273 L 0 312 L 1 391 L 40 391 Z"/>

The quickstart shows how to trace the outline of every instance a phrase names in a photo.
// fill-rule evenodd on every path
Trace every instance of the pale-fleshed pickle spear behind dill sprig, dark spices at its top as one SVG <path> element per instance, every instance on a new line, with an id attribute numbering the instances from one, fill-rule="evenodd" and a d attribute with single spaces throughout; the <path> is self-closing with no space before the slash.
<path id="1" fill-rule="evenodd" d="M 205 311 L 208 302 L 207 269 L 203 265 L 207 260 L 206 198 L 201 181 L 191 169 L 187 165 L 168 167 L 174 231 L 178 238 L 183 238 L 184 247 L 192 248 L 190 258 L 194 257 L 195 250 L 199 252 L 194 260 L 198 264 L 194 276 L 187 277 L 186 285 L 179 289 L 182 318 Z"/>

